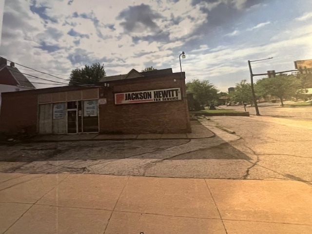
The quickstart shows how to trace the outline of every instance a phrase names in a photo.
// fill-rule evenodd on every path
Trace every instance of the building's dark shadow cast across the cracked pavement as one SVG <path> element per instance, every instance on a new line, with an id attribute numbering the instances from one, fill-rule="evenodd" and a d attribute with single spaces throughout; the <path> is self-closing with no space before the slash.
<path id="1" fill-rule="evenodd" d="M 126 140 L 46 142 L 0 146 L 0 172 L 51 173 L 49 167 L 62 167 L 55 173 L 73 172 L 98 163 L 118 163 L 119 159 L 138 160 L 137 164 L 162 160 L 226 159 L 252 160 L 219 137 L 180 140 Z M 83 162 L 85 161 L 85 165 Z M 78 162 L 78 165 L 75 165 Z M 124 161 L 120 161 L 125 163 Z M 42 164 L 43 163 L 43 164 Z M 89 163 L 89 164 L 88 164 Z M 201 161 L 202 163 L 202 161 Z M 118 165 L 118 164 L 117 164 Z M 129 165 L 136 168 L 137 165 Z M 144 167 L 144 166 L 143 166 Z M 122 170 L 122 169 L 121 169 Z M 54 171 L 53 171 L 54 173 Z"/>

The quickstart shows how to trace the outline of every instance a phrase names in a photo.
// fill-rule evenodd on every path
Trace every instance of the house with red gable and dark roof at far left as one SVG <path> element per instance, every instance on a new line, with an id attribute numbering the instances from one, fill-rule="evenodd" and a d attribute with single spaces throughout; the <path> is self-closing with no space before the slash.
<path id="1" fill-rule="evenodd" d="M 36 89 L 35 86 L 15 67 L 14 62 L 7 65 L 7 60 L 0 57 L 0 111 L 1 93 Z"/>

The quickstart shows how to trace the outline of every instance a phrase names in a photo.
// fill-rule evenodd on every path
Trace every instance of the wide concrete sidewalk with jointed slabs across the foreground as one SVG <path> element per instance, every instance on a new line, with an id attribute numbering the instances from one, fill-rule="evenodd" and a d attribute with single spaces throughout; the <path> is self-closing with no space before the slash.
<path id="1" fill-rule="evenodd" d="M 0 174 L 0 234 L 311 234 L 311 198 L 297 181 Z"/>

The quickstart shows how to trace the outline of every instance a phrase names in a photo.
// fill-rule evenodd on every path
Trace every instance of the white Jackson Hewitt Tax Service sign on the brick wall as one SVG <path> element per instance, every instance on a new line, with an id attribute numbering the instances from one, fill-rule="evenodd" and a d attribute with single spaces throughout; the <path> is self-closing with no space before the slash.
<path id="1" fill-rule="evenodd" d="M 181 100 L 180 88 L 115 94 L 115 104 Z"/>

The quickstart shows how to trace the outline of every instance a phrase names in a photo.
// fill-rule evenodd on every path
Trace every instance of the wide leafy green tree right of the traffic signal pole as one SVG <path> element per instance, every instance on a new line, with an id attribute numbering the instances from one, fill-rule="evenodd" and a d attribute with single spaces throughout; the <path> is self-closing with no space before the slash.
<path id="1" fill-rule="evenodd" d="M 283 98 L 291 98 L 296 95 L 300 88 L 300 80 L 292 75 L 280 74 L 273 78 L 259 79 L 255 86 L 257 92 L 261 93 L 262 96 L 276 96 L 284 106 Z"/>

